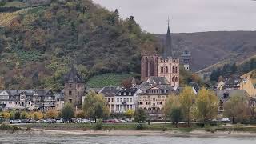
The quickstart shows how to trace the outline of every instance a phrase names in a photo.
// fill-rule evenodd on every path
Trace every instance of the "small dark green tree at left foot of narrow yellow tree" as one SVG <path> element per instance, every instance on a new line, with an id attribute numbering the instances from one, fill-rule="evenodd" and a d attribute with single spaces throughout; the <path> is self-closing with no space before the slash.
<path id="1" fill-rule="evenodd" d="M 181 106 L 174 106 L 170 110 L 170 120 L 178 127 L 178 122 L 181 122 L 183 118 Z"/>

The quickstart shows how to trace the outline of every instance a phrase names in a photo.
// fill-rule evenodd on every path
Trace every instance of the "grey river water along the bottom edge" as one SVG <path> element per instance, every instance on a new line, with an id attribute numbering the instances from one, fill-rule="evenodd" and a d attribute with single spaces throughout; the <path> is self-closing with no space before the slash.
<path id="1" fill-rule="evenodd" d="M 1 134 L 0 143 L 66 144 L 256 144 L 255 137 L 166 137 L 166 136 L 85 136 L 74 134 Z"/>

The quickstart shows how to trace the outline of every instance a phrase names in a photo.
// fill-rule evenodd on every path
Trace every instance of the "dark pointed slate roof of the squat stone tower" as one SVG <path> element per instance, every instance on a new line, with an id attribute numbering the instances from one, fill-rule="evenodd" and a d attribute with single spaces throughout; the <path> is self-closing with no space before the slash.
<path id="1" fill-rule="evenodd" d="M 81 75 L 78 73 L 78 70 L 74 68 L 74 66 L 71 67 L 71 70 L 69 73 L 67 73 L 64 77 L 65 82 L 81 82 L 84 83 Z"/>

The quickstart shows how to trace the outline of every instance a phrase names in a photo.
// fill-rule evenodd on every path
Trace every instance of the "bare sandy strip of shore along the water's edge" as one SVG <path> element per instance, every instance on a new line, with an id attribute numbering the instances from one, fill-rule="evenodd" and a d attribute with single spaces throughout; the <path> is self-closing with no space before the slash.
<path id="1" fill-rule="evenodd" d="M 216 131 L 214 133 L 205 130 L 184 131 L 158 131 L 158 130 L 0 130 L 0 134 L 68 134 L 87 136 L 166 136 L 166 137 L 256 137 L 256 133 L 238 131 Z"/>

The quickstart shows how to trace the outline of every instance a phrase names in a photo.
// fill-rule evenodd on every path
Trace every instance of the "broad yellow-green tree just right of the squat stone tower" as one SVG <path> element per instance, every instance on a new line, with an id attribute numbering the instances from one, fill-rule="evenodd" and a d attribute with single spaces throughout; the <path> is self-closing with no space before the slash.
<path id="1" fill-rule="evenodd" d="M 86 95 L 83 110 L 88 118 L 94 118 L 95 121 L 98 118 L 107 117 L 110 114 L 110 110 L 106 107 L 106 100 L 103 95 L 96 94 L 94 91 L 90 91 L 89 94 Z"/>

